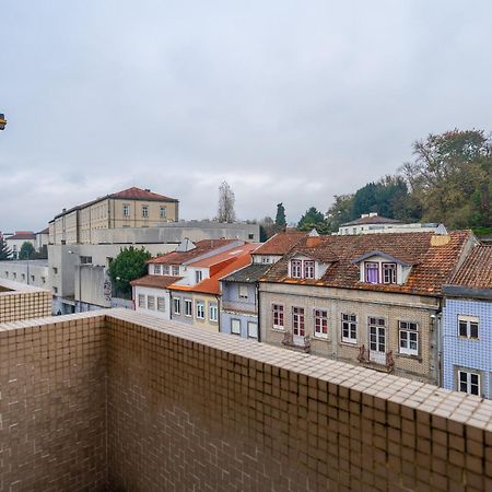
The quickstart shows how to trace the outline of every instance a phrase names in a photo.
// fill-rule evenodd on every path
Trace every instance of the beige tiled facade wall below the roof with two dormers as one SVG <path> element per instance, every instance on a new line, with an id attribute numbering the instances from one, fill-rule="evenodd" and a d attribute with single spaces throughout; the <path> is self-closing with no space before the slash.
<path id="1" fill-rule="evenodd" d="M 386 352 L 393 351 L 396 374 L 433 384 L 438 383 L 437 330 L 434 329 L 431 317 L 438 313 L 437 298 L 267 282 L 260 282 L 259 289 L 261 341 L 280 345 L 284 332 L 292 331 L 292 308 L 302 307 L 305 313 L 305 335 L 312 337 L 312 353 L 359 364 L 360 348 L 364 345 L 367 350 L 370 347 L 368 317 L 383 317 L 386 321 Z M 284 307 L 284 330 L 273 328 L 273 304 Z M 315 337 L 314 309 L 328 312 L 327 338 Z M 345 343 L 341 340 L 342 314 L 356 315 L 356 343 Z M 418 323 L 418 355 L 399 353 L 398 321 L 400 320 Z M 384 366 L 375 365 L 375 368 L 384 368 Z"/>

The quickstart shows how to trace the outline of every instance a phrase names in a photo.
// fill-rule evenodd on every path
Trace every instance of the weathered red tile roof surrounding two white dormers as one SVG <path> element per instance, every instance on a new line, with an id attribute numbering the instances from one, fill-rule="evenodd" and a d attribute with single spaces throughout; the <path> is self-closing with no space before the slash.
<path id="1" fill-rule="evenodd" d="M 297 245 L 289 255 L 273 265 L 261 279 L 267 282 L 286 282 L 320 286 L 401 292 L 423 295 L 441 295 L 443 284 L 452 278 L 465 245 L 472 241 L 470 231 L 449 234 L 449 242 L 432 246 L 433 233 L 367 234 L 321 236 L 315 248 Z M 442 236 L 437 236 L 442 237 Z M 304 242 L 305 243 L 305 242 Z M 352 261 L 365 253 L 378 250 L 413 267 L 405 285 L 370 284 L 360 281 L 359 266 Z M 319 280 L 288 278 L 288 262 L 295 254 L 312 255 L 315 259 L 331 263 Z"/>

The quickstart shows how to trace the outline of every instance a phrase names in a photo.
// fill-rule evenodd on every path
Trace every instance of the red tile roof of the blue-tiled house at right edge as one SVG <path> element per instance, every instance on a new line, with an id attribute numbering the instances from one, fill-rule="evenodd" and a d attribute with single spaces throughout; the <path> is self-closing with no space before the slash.
<path id="1" fill-rule="evenodd" d="M 449 283 L 470 289 L 492 289 L 492 245 L 476 246 Z"/>

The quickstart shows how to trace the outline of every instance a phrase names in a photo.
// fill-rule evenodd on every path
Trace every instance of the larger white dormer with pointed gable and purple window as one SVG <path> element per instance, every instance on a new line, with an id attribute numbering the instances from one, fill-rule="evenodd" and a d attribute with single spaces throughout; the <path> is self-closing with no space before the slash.
<path id="1" fill-rule="evenodd" d="M 402 285 L 412 269 L 411 263 L 377 250 L 355 258 L 352 263 L 360 267 L 361 282 L 384 285 Z"/>

